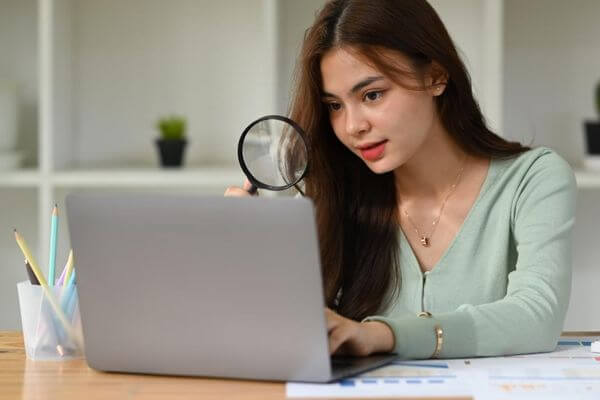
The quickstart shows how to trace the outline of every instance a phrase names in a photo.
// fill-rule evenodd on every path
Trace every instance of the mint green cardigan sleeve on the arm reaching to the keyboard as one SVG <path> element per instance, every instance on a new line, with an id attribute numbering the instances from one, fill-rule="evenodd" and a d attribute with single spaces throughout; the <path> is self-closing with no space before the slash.
<path id="1" fill-rule="evenodd" d="M 571 289 L 575 178 L 562 158 L 546 152 L 514 187 L 512 201 L 506 203 L 517 257 L 516 265 L 507 269 L 505 296 L 485 304 L 462 304 L 429 319 L 408 313 L 367 318 L 392 328 L 397 354 L 431 356 L 435 325 L 444 331 L 441 357 L 445 358 L 543 352 L 556 346 Z M 479 288 L 453 288 L 463 289 Z"/>

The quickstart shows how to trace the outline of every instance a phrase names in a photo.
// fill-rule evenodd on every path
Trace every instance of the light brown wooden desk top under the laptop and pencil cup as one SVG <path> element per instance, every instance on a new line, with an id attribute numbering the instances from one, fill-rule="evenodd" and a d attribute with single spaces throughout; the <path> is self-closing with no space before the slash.
<path id="1" fill-rule="evenodd" d="M 103 373 L 84 360 L 30 361 L 21 332 L 6 331 L 0 331 L 0 388 L 2 399 L 285 399 L 283 383 Z"/>

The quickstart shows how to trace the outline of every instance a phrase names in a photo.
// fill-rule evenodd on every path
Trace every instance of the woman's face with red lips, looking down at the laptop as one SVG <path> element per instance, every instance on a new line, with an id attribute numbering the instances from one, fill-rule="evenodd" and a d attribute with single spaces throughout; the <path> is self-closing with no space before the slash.
<path id="1" fill-rule="evenodd" d="M 403 70 L 410 70 L 406 59 L 397 58 Z M 402 166 L 432 131 L 433 97 L 443 89 L 406 89 L 343 48 L 325 53 L 321 77 L 335 135 L 375 173 Z"/>

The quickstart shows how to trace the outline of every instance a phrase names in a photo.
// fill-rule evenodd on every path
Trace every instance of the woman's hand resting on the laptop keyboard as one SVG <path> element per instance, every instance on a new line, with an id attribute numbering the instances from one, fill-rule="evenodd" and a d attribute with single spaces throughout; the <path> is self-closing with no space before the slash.
<path id="1" fill-rule="evenodd" d="M 394 349 L 394 333 L 383 322 L 356 322 L 329 308 L 325 309 L 325 316 L 330 354 L 368 356 Z"/>

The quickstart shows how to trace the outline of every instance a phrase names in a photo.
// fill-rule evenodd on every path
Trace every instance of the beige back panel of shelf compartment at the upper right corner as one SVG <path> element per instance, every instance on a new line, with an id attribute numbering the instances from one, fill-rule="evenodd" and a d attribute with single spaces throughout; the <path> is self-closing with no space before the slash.
<path id="1" fill-rule="evenodd" d="M 598 0 L 506 0 L 507 135 L 560 150 L 577 165 L 583 120 L 597 118 Z"/>

